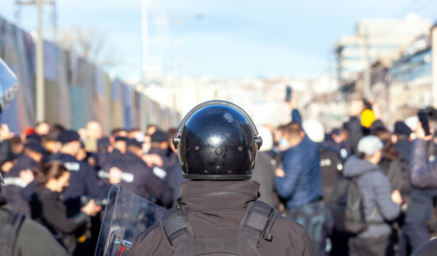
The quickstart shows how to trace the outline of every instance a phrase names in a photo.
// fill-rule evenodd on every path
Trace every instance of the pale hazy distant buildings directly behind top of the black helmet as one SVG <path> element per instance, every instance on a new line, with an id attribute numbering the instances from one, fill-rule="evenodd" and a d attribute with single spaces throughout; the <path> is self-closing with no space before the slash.
<path id="1" fill-rule="evenodd" d="M 241 106 L 256 123 L 278 126 L 291 121 L 286 106 L 286 86 L 293 88 L 303 118 L 322 121 L 326 128 L 341 125 L 346 110 L 338 93 L 335 75 L 313 79 L 288 76 L 272 78 L 193 78 L 163 79 L 151 83 L 146 95 L 161 106 L 175 109 L 183 116 L 191 108 L 214 99 L 231 101 Z"/>

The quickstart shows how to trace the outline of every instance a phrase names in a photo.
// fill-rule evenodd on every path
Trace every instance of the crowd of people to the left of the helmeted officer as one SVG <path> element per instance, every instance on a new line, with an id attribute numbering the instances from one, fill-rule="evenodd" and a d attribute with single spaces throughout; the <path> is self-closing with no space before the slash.
<path id="1" fill-rule="evenodd" d="M 184 178 L 174 133 L 149 126 L 106 137 L 91 121 L 77 131 L 41 122 L 15 135 L 2 125 L 1 201 L 44 225 L 69 255 L 94 255 L 111 185 L 164 208 L 178 198 Z"/>

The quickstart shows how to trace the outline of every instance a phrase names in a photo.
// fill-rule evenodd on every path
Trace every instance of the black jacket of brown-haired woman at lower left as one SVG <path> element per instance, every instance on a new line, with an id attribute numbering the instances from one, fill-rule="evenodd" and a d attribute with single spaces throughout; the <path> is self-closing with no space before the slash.
<path id="1" fill-rule="evenodd" d="M 74 233 L 81 233 L 87 215 L 79 212 L 74 217 L 67 217 L 67 209 L 59 199 L 59 193 L 43 185 L 36 185 L 35 192 L 31 200 L 32 217 L 46 226 L 69 252 L 73 252 L 76 247 Z"/>

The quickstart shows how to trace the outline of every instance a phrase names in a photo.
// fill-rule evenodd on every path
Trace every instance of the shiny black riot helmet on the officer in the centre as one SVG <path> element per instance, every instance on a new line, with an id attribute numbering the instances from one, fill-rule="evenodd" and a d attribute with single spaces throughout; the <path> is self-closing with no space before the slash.
<path id="1" fill-rule="evenodd" d="M 208 101 L 185 116 L 173 143 L 184 178 L 247 180 L 262 139 L 243 109 L 226 101 Z"/>

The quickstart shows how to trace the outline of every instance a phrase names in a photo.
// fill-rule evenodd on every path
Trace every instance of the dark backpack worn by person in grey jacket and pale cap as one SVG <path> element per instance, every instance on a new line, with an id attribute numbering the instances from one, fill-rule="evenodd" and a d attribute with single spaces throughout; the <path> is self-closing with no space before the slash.
<path id="1" fill-rule="evenodd" d="M 358 178 L 361 175 L 341 178 L 334 186 L 331 211 L 335 228 L 340 232 L 358 234 L 368 227 L 369 222 L 363 211 L 363 195 L 358 185 Z M 375 210 L 372 215 L 374 213 Z"/>

